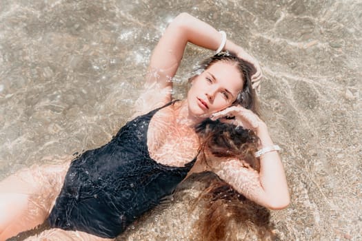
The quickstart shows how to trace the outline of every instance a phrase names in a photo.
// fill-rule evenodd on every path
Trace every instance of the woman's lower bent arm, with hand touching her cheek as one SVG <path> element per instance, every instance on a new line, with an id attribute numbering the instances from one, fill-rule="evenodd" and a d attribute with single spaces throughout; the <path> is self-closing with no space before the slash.
<path id="1" fill-rule="evenodd" d="M 214 114 L 213 118 L 230 114 L 236 117 L 238 125 L 254 130 L 260 139 L 259 149 L 274 145 L 268 127 L 250 109 L 233 106 Z M 239 160 L 220 163 L 214 167 L 214 172 L 234 189 L 264 207 L 283 209 L 290 203 L 285 171 L 277 151 L 268 151 L 260 156 L 259 174 L 243 167 Z"/>

